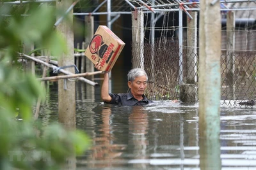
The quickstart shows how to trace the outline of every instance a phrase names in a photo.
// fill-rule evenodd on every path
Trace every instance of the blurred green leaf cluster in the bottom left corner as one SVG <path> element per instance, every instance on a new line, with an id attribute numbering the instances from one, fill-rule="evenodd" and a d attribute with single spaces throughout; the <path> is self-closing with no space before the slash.
<path id="1" fill-rule="evenodd" d="M 89 146 L 83 132 L 65 131 L 59 124 L 42 128 L 14 120 L 3 108 L 0 112 L 0 169 L 61 169 L 67 157 Z"/>

